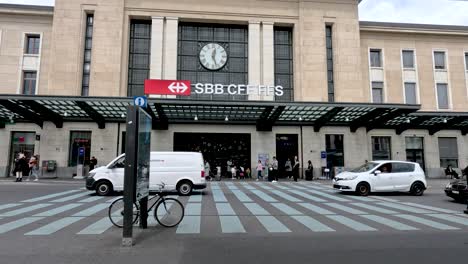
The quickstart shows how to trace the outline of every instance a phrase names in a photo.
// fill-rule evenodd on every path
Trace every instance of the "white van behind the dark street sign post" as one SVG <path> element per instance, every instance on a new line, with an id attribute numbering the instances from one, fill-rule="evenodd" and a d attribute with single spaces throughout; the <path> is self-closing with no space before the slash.
<path id="1" fill-rule="evenodd" d="M 118 156 L 107 166 L 89 172 L 86 188 L 98 195 L 112 191 L 123 191 L 125 154 Z M 151 152 L 150 191 L 159 190 L 165 184 L 165 191 L 177 190 L 180 195 L 190 195 L 193 189 L 206 188 L 203 156 L 198 152 Z"/>

